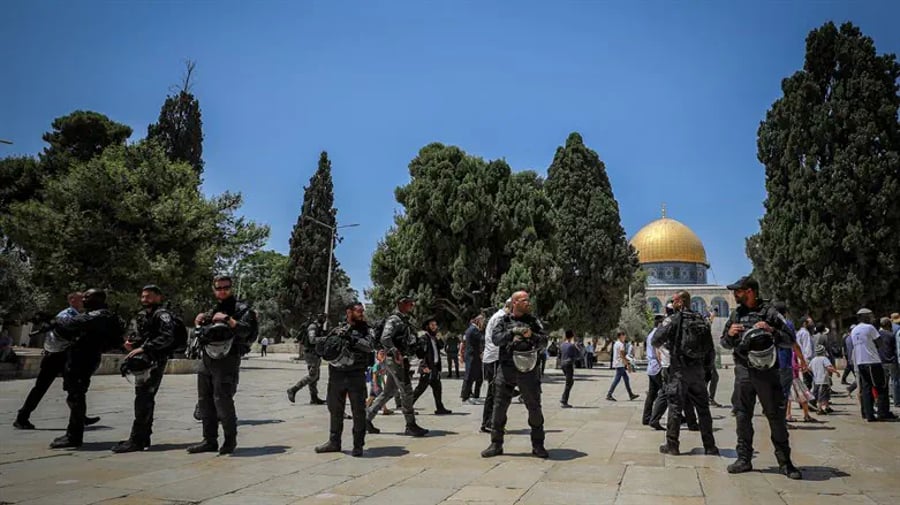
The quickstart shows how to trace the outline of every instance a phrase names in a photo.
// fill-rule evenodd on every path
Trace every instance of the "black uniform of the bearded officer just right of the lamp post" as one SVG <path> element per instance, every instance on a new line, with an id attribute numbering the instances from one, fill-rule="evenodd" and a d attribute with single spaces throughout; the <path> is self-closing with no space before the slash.
<path id="1" fill-rule="evenodd" d="M 331 418 L 329 441 L 341 445 L 344 431 L 344 407 L 350 398 L 353 414 L 353 448 L 362 449 L 366 438 L 366 367 L 372 361 L 372 337 L 369 325 L 359 321 L 353 326 L 343 324 L 330 335 L 346 340 L 341 357 L 328 363 L 328 413 Z"/>

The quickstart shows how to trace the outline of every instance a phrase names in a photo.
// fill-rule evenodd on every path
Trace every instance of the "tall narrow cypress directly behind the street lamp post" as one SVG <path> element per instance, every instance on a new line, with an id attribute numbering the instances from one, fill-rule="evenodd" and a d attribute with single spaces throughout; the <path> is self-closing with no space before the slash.
<path id="1" fill-rule="evenodd" d="M 291 233 L 282 303 L 290 311 L 292 325 L 299 325 L 322 312 L 328 280 L 328 253 L 331 241 L 337 240 L 332 231 L 336 226 L 337 210 L 334 208 L 331 161 L 328 153 L 322 151 L 316 172 L 309 179 L 309 185 L 303 188 L 300 215 Z M 334 288 L 337 277 L 334 272 L 339 269 L 339 265 L 333 254 L 331 268 L 334 269 Z M 334 316 L 333 313 L 331 315 Z"/>

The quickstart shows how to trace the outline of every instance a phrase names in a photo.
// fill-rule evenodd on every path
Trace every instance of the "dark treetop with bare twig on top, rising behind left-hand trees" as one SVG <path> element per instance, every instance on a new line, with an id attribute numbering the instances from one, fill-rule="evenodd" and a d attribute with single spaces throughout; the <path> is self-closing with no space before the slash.
<path id="1" fill-rule="evenodd" d="M 203 119 L 200 102 L 191 93 L 196 64 L 186 63 L 181 87 L 166 97 L 156 123 L 147 127 L 147 138 L 159 142 L 170 160 L 183 161 L 203 174 Z"/>

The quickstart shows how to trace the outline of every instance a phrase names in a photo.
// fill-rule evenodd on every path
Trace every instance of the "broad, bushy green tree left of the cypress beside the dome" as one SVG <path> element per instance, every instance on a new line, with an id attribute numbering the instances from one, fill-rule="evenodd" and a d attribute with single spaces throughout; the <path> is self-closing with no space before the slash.
<path id="1" fill-rule="evenodd" d="M 379 311 L 415 292 L 419 316 L 458 330 L 527 289 L 541 315 L 558 312 L 550 202 L 535 173 L 439 143 L 422 148 L 409 173 L 396 190 L 405 212 L 372 257 L 369 296 Z"/>

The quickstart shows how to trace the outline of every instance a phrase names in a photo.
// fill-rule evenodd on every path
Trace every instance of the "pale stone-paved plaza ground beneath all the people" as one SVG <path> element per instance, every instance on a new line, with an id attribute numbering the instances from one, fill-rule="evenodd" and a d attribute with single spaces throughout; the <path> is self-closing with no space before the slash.
<path id="1" fill-rule="evenodd" d="M 606 369 L 578 371 L 571 398 L 576 408 L 566 410 L 558 406 L 562 376 L 548 370 L 543 403 L 549 460 L 530 457 L 525 409 L 516 403 L 510 408 L 507 454 L 482 459 L 479 452 L 488 436 L 477 431 L 481 407 L 460 404 L 455 379 L 444 381 L 453 415 L 432 415 L 430 392 L 420 400 L 419 423 L 432 430 L 428 437 L 398 435 L 402 416 L 379 416 L 375 422 L 383 434 L 367 437 L 365 457 L 352 458 L 347 452 L 313 452 L 327 438 L 327 411 L 307 405 L 306 391 L 297 397 L 302 402 L 288 403 L 284 390 L 305 366 L 286 358 L 253 357 L 243 363 L 236 401 L 239 446 L 230 457 L 184 451 L 199 441 L 201 431 L 191 417 L 193 376 L 165 377 L 153 447 L 121 455 L 109 449 L 127 437 L 131 426 L 133 396 L 125 379 L 94 378 L 88 412 L 103 419 L 89 428 L 78 451 L 47 448 L 62 434 L 68 412 L 61 381 L 33 415 L 39 429 L 30 432 L 13 429 L 12 421 L 32 380 L 0 383 L 0 503 L 900 503 L 900 424 L 862 422 L 855 401 L 847 397 L 837 398 L 839 413 L 824 417 L 825 422 L 798 424 L 791 431 L 803 481 L 775 473 L 768 428 L 759 415 L 756 471 L 728 475 L 735 435 L 725 408 L 713 410 L 722 457 L 697 455 L 701 444 L 692 432 L 683 433 L 681 446 L 695 455 L 660 455 L 662 434 L 641 426 L 646 376 L 633 376 L 640 400 L 626 401 L 620 385 L 619 401 L 609 403 L 604 396 L 612 374 Z M 727 402 L 731 384 L 731 371 L 723 370 L 719 401 Z M 347 449 L 349 438 L 347 421 Z"/>

